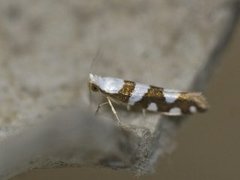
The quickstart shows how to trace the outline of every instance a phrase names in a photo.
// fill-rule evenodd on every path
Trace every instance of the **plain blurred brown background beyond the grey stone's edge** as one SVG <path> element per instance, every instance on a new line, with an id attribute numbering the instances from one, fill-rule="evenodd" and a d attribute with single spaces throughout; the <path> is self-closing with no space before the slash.
<path id="1" fill-rule="evenodd" d="M 221 54 L 206 90 L 208 113 L 191 117 L 176 136 L 176 149 L 159 160 L 152 175 L 136 177 L 125 171 L 104 168 L 33 170 L 12 180 L 43 179 L 195 179 L 240 178 L 240 23 Z"/>

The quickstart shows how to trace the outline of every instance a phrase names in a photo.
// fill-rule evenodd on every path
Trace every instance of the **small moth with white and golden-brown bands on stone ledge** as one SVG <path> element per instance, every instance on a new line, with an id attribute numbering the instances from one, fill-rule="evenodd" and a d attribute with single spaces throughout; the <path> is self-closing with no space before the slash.
<path id="1" fill-rule="evenodd" d="M 204 112 L 208 103 L 199 92 L 183 92 L 164 89 L 157 86 L 146 85 L 114 77 L 101 77 L 89 74 L 89 89 L 100 92 L 107 102 L 98 105 L 97 111 L 103 105 L 109 104 L 113 114 L 119 121 L 116 110 L 112 104 L 126 105 L 140 108 L 143 112 L 159 112 L 167 116 L 181 116 Z"/>

